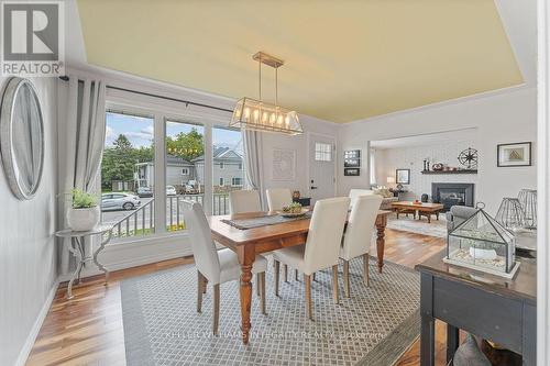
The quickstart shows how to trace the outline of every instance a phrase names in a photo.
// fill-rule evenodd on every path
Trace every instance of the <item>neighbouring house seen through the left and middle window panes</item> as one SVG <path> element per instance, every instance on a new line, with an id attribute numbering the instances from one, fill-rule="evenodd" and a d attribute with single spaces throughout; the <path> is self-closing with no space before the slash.
<path id="1" fill-rule="evenodd" d="M 185 186 L 196 179 L 195 165 L 188 160 L 168 155 L 166 157 L 166 186 Z M 153 162 L 135 164 L 135 187 L 153 187 L 155 181 L 155 166 Z"/>

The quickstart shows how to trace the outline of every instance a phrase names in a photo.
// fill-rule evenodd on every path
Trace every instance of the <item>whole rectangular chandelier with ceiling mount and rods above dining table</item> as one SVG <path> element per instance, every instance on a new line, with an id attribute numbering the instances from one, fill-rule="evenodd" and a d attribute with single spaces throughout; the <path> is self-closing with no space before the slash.
<path id="1" fill-rule="evenodd" d="M 288 135 L 304 133 L 298 113 L 278 104 L 277 70 L 285 62 L 263 52 L 256 53 L 252 58 L 257 60 L 258 65 L 258 100 L 249 97 L 240 99 L 233 110 L 229 126 Z M 275 104 L 262 100 L 262 64 L 275 69 Z"/>

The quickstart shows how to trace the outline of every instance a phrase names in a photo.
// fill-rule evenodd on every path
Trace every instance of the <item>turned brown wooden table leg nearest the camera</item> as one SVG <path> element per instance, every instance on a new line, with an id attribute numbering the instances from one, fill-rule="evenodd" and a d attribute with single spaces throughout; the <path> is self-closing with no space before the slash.
<path id="1" fill-rule="evenodd" d="M 238 248 L 239 263 L 241 264 L 241 332 L 243 344 L 249 344 L 250 336 L 250 309 L 252 306 L 252 265 L 255 259 L 253 245 L 243 245 Z"/>

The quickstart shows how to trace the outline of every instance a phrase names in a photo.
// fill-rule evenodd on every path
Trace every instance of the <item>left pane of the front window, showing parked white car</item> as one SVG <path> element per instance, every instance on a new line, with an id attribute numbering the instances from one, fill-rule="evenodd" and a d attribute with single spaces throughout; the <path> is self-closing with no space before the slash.
<path id="1" fill-rule="evenodd" d="M 106 113 L 101 160 L 101 221 L 113 241 L 154 232 L 154 121 L 148 117 Z"/>

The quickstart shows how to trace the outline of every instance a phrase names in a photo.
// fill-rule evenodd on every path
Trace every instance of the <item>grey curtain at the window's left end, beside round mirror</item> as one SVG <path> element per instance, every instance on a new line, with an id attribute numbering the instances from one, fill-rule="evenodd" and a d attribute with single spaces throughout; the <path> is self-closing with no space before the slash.
<path id="1" fill-rule="evenodd" d="M 66 103 L 65 129 L 61 129 L 59 160 L 61 197 L 63 198 L 61 226 L 66 226 L 66 213 L 70 207 L 67 193 L 77 188 L 97 192 L 99 169 L 105 144 L 105 96 L 103 81 L 78 79 L 70 76 Z M 59 111 L 63 115 L 64 111 Z M 61 254 L 61 273 L 66 274 L 72 266 L 67 243 Z"/>

